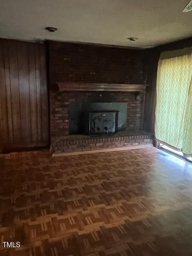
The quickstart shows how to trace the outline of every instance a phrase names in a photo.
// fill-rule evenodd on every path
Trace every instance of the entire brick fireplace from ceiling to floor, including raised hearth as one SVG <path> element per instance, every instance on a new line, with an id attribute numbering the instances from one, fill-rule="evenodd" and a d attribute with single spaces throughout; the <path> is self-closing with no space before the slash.
<path id="1" fill-rule="evenodd" d="M 142 131 L 144 94 L 135 92 L 60 92 L 52 86 L 65 83 L 146 85 L 148 54 L 144 49 L 48 41 L 50 134 L 54 154 L 152 146 L 153 135 Z M 127 102 L 126 130 L 115 136 L 69 135 L 70 102 Z"/>

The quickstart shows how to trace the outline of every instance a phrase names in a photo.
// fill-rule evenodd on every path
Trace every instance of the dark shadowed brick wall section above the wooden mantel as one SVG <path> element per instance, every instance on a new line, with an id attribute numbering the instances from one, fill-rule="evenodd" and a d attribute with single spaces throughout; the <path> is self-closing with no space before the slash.
<path id="1" fill-rule="evenodd" d="M 49 41 L 50 83 L 145 84 L 146 50 Z"/>

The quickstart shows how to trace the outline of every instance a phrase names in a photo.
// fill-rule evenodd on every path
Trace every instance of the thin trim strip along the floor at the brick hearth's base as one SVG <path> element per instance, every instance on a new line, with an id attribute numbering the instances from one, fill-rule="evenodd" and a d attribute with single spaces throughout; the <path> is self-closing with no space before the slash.
<path id="1" fill-rule="evenodd" d="M 88 151 L 77 151 L 77 152 L 66 152 L 66 153 L 53 153 L 53 157 L 57 156 L 75 156 L 75 155 L 83 155 L 83 154 L 93 154 L 93 153 L 104 153 L 104 152 L 111 152 L 111 151 L 120 151 L 120 150 L 131 150 L 131 149 L 139 149 L 139 148 L 150 148 L 153 147 L 152 144 L 150 145 L 138 145 L 138 146 L 129 146 L 127 148 L 102 148 L 96 150 L 88 150 Z"/>

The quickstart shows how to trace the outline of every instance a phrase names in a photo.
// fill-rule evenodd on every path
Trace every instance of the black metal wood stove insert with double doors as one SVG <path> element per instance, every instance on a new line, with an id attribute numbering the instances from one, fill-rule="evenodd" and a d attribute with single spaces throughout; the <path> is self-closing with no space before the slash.
<path id="1" fill-rule="evenodd" d="M 84 113 L 86 134 L 114 134 L 117 132 L 118 111 L 89 111 Z"/>

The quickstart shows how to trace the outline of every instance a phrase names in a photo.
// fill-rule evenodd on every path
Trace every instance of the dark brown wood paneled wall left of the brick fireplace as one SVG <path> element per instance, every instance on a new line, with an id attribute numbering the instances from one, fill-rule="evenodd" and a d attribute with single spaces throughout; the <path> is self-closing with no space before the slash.
<path id="1" fill-rule="evenodd" d="M 48 92 L 44 44 L 0 40 L 2 150 L 48 145 Z"/>

